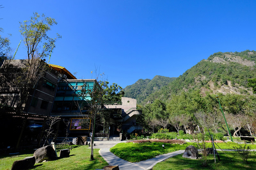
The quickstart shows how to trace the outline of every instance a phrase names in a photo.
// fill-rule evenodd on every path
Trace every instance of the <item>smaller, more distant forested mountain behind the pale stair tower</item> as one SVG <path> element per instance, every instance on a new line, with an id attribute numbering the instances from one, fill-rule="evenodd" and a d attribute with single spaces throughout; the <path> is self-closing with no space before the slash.
<path id="1" fill-rule="evenodd" d="M 128 85 L 123 89 L 124 97 L 137 99 L 137 102 L 141 103 L 149 94 L 158 91 L 175 79 L 164 76 L 155 76 L 152 80 L 139 79 L 133 85 Z"/>

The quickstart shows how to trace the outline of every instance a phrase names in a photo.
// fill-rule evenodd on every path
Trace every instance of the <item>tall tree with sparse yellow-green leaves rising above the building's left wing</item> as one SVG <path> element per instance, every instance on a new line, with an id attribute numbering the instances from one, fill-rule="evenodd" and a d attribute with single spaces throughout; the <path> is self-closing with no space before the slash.
<path id="1" fill-rule="evenodd" d="M 17 104 L 17 111 L 21 111 L 23 104 L 28 100 L 28 92 L 36 84 L 41 75 L 47 68 L 45 63 L 41 61 L 49 56 L 55 47 L 54 42 L 61 36 L 57 34 L 57 38 L 50 38 L 48 32 L 53 25 L 56 25 L 55 19 L 40 16 L 34 13 L 30 20 L 20 22 L 20 33 L 23 36 L 23 42 L 27 48 L 27 60 L 24 61 L 19 76 L 15 78 L 16 87 L 20 91 L 20 102 Z"/>

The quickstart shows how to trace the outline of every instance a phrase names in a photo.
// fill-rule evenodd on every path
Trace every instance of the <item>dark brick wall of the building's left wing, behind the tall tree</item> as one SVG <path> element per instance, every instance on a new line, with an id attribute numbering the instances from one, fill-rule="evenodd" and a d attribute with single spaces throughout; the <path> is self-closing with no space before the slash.
<path id="1" fill-rule="evenodd" d="M 50 115 L 56 92 L 57 81 L 61 77 L 61 74 L 58 71 L 49 68 L 48 64 L 43 60 L 40 60 L 39 62 L 40 67 L 45 66 L 46 70 L 40 76 L 38 81 L 33 82 L 34 86 L 28 88 L 28 99 L 23 103 L 23 112 L 39 115 Z M 11 61 L 13 67 L 9 68 L 10 82 L 6 82 L 4 84 L 6 86 L 5 89 L 1 88 L 0 103 L 8 104 L 11 107 L 16 107 L 17 103 L 20 102 L 20 91 L 19 88 L 15 86 L 15 79 L 12 79 L 11 75 L 19 74 L 19 70 L 22 67 L 26 67 L 27 63 L 27 60 Z"/>

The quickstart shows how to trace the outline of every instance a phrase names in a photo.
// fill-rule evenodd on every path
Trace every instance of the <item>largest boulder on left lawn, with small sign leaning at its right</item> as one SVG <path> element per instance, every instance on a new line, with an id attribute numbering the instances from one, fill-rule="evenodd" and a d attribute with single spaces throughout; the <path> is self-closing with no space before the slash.
<path id="1" fill-rule="evenodd" d="M 43 162 L 44 160 L 54 160 L 56 159 L 56 154 L 51 146 L 44 146 L 37 149 L 33 155 L 36 158 L 36 163 Z"/>

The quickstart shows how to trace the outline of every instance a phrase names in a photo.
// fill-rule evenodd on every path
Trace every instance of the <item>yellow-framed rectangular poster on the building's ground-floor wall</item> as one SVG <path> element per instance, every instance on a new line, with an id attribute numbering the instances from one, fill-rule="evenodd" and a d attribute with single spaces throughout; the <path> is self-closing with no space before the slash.
<path id="1" fill-rule="evenodd" d="M 69 130 L 90 130 L 91 118 L 71 118 Z"/>

